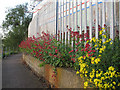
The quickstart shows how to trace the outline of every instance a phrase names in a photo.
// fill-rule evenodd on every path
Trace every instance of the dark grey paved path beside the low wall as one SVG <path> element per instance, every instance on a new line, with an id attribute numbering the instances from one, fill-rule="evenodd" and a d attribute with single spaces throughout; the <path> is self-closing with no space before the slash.
<path id="1" fill-rule="evenodd" d="M 3 59 L 2 88 L 45 88 L 41 81 L 21 62 L 22 54 Z"/>

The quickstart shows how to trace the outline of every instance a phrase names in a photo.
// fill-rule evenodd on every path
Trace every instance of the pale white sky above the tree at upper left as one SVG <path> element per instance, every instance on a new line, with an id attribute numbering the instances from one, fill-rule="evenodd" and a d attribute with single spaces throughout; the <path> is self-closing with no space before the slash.
<path id="1" fill-rule="evenodd" d="M 0 27 L 5 19 L 7 9 L 14 8 L 16 5 L 30 3 L 30 0 L 0 0 Z M 0 28 L 0 34 L 2 34 L 2 30 Z"/>

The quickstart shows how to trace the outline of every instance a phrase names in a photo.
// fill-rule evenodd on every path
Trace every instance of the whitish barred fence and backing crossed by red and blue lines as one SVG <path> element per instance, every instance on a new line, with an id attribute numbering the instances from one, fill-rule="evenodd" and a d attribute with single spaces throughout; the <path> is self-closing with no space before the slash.
<path id="1" fill-rule="evenodd" d="M 37 37 L 42 31 L 53 35 L 58 31 L 66 33 L 68 26 L 80 34 L 89 28 L 90 38 L 94 28 L 98 38 L 98 28 L 106 25 L 110 38 L 114 39 L 116 32 L 120 38 L 119 10 L 119 0 L 43 0 L 33 9 L 28 36 Z"/>

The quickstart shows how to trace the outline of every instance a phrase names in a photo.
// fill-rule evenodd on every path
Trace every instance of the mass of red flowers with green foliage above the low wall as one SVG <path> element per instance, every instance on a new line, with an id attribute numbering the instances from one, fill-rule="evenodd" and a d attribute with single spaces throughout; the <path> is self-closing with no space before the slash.
<path id="1" fill-rule="evenodd" d="M 94 28 L 95 27 L 92 27 L 93 31 L 94 31 Z M 78 29 L 80 29 L 80 27 L 78 27 Z M 101 29 L 101 26 L 99 26 L 99 30 L 100 29 Z M 66 44 L 62 44 L 61 41 L 59 41 L 60 39 L 63 40 L 64 39 L 63 36 L 66 36 L 65 34 L 68 35 L 68 32 L 70 32 L 70 39 L 71 39 L 69 43 L 72 42 L 73 45 L 71 46 L 73 46 L 74 48 L 71 47 L 70 45 L 67 46 Z M 67 33 L 58 32 L 57 40 L 55 39 L 56 36 L 50 35 L 49 33 L 42 32 L 42 35 L 39 36 L 38 38 L 33 36 L 32 38 L 31 37 L 28 38 L 26 41 L 22 41 L 19 47 L 24 49 L 31 55 L 39 58 L 40 60 L 46 61 L 47 63 L 52 63 L 52 64 L 53 62 L 57 63 L 59 59 L 60 59 L 59 63 L 62 62 L 62 64 L 65 61 L 69 61 L 69 60 L 72 60 L 72 62 L 75 62 L 75 58 L 77 58 L 75 54 L 79 53 L 80 51 L 83 51 L 83 49 L 81 50 L 81 46 L 80 46 L 82 41 L 84 44 L 84 41 L 90 40 L 89 26 L 87 26 L 87 33 L 84 33 L 84 30 L 83 30 L 82 34 L 79 34 L 78 31 L 72 31 L 72 28 L 68 29 L 68 32 Z M 60 38 L 60 34 L 61 34 L 61 37 L 63 38 Z M 88 51 L 89 56 L 93 55 L 93 53 L 91 54 L 91 52 L 95 52 L 91 50 L 91 48 L 92 47 L 90 47 L 89 44 L 86 44 L 84 48 L 84 51 Z M 53 60 L 48 61 L 47 59 L 53 59 Z M 69 61 L 69 63 L 71 63 L 71 61 Z"/>

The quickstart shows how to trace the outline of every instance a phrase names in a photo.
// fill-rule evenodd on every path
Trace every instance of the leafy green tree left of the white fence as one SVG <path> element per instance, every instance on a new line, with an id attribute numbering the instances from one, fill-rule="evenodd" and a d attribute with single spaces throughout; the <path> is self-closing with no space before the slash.
<path id="1" fill-rule="evenodd" d="M 32 19 L 32 14 L 27 12 L 27 4 L 17 5 L 7 11 L 2 23 L 4 32 L 8 31 L 3 39 L 5 47 L 17 48 L 20 42 L 27 37 L 28 25 Z"/>

